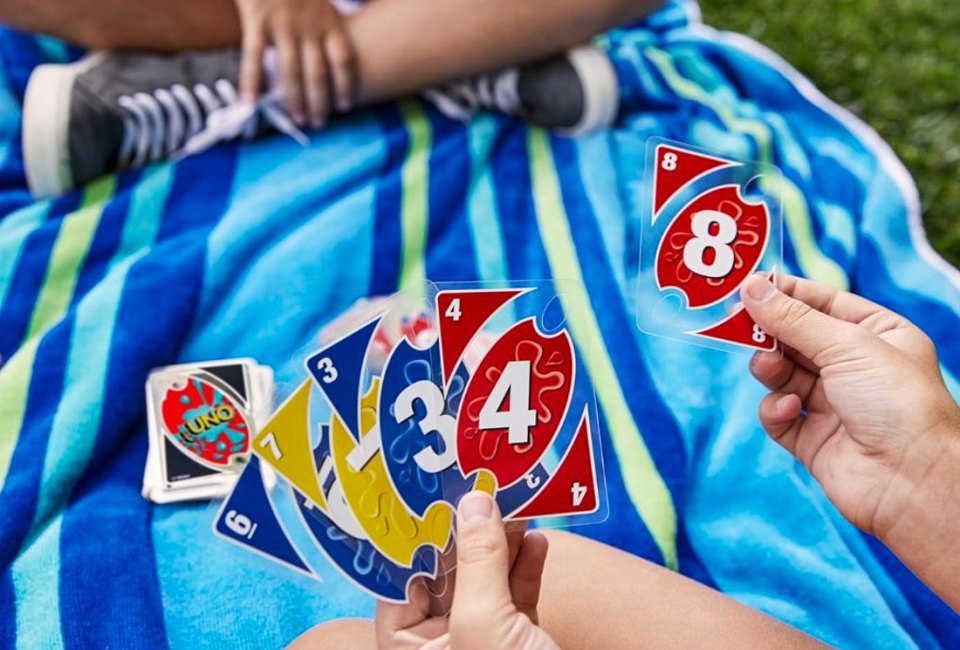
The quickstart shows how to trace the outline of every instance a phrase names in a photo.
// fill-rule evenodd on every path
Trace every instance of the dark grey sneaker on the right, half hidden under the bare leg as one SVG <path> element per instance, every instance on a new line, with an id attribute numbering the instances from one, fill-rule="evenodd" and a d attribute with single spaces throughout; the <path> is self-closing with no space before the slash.
<path id="1" fill-rule="evenodd" d="M 467 120 L 475 111 L 486 109 L 570 135 L 609 127 L 620 108 L 613 64 L 593 46 L 425 94 L 455 119 Z"/>

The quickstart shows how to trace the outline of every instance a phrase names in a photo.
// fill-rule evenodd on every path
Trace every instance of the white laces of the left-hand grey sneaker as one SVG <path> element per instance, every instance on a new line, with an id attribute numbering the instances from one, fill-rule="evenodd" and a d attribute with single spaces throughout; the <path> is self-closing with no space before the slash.
<path id="1" fill-rule="evenodd" d="M 124 95 L 117 103 L 126 113 L 118 156 L 121 168 L 191 156 L 241 136 L 249 140 L 256 135 L 258 115 L 301 145 L 308 144 L 307 136 L 287 116 L 278 90 L 251 104 L 240 100 L 232 83 L 220 79 L 213 90 L 197 84 L 191 92 L 176 84 Z"/>

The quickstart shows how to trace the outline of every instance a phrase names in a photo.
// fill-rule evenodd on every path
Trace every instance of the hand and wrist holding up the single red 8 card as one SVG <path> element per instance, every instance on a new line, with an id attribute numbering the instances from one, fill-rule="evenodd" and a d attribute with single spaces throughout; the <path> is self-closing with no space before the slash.
<path id="1" fill-rule="evenodd" d="M 853 294 L 751 278 L 754 320 L 789 353 L 754 358 L 767 432 L 856 526 L 960 611 L 960 408 L 930 339 Z"/>

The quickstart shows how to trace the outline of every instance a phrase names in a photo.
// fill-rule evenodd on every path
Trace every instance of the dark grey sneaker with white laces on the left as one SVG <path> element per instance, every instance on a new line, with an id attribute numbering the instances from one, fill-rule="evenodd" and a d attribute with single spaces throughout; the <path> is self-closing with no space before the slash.
<path id="1" fill-rule="evenodd" d="M 39 66 L 23 104 L 31 192 L 58 196 L 185 148 L 189 153 L 216 140 L 252 137 L 255 107 L 239 100 L 239 69 L 236 49 L 172 56 L 100 52 L 69 65 Z M 211 128 L 211 115 L 222 118 L 228 107 L 247 110 Z"/>

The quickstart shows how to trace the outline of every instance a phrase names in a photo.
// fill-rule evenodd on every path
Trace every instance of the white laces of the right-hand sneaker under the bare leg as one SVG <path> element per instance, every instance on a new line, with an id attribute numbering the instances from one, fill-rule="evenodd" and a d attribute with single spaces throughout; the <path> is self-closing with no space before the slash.
<path id="1" fill-rule="evenodd" d="M 519 76 L 516 68 L 508 68 L 469 81 L 429 88 L 423 94 L 441 113 L 455 120 L 465 122 L 481 108 L 513 115 L 520 110 Z"/>

